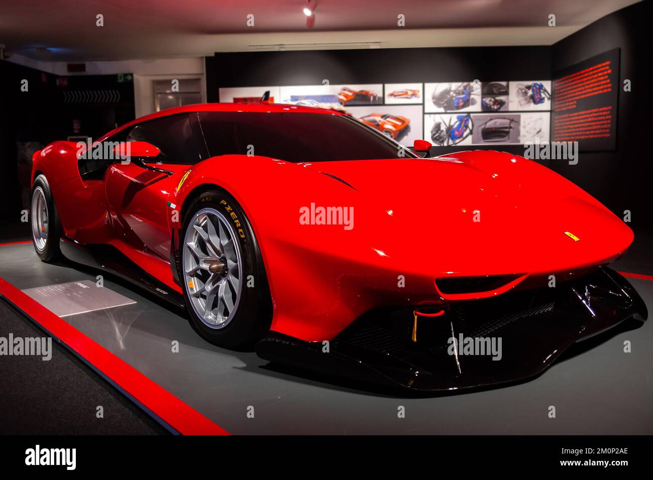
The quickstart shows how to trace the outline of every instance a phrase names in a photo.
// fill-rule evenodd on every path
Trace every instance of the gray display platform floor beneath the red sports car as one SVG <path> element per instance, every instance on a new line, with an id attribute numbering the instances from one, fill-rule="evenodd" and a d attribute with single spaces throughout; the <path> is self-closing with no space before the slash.
<path id="1" fill-rule="evenodd" d="M 95 281 L 98 273 L 42 263 L 31 244 L 0 246 L 0 277 L 19 289 Z M 630 281 L 653 312 L 653 281 Z M 255 353 L 208 344 L 183 312 L 129 283 L 105 275 L 104 286 L 136 303 L 65 321 L 232 434 L 653 433 L 653 321 L 558 362 L 526 383 L 402 398 L 276 370 Z M 624 353 L 625 340 L 632 353 Z M 250 406 L 253 418 L 247 416 Z M 398 418 L 400 406 L 405 418 Z M 549 418 L 550 406 L 556 407 L 556 418 Z"/>

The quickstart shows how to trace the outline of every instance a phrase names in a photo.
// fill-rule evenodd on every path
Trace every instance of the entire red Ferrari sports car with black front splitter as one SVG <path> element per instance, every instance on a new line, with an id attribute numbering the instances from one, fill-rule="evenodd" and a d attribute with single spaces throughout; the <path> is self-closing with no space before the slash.
<path id="1" fill-rule="evenodd" d="M 646 318 L 606 266 L 633 233 L 579 187 L 510 153 L 422 158 L 333 110 L 183 106 L 54 142 L 31 177 L 43 261 L 110 270 L 214 344 L 364 383 L 513 381 Z"/>

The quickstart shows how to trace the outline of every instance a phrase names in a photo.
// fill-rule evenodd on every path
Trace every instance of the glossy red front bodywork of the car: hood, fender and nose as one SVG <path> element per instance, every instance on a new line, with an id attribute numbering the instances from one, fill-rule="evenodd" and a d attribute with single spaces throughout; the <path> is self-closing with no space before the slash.
<path id="1" fill-rule="evenodd" d="M 216 175 L 223 171 L 232 175 Z M 453 299 L 498 295 L 528 276 L 609 263 L 633 238 L 571 182 L 507 153 L 314 165 L 217 157 L 191 170 L 175 202 L 208 184 L 230 191 L 253 224 L 276 307 L 272 330 L 304 340 L 333 338 L 376 306 L 441 302 L 436 278 L 522 274 L 499 291 Z M 354 228 L 301 225 L 299 209 L 311 202 L 353 207 Z"/>

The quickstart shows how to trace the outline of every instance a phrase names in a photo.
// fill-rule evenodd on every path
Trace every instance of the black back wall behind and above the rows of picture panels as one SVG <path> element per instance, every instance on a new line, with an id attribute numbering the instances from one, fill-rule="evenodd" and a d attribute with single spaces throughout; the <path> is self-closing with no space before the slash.
<path id="1" fill-rule="evenodd" d="M 236 52 L 206 58 L 210 102 L 218 101 L 220 88 L 319 85 L 325 79 L 331 84 L 391 84 L 532 80 L 548 79 L 550 75 L 549 46 Z M 469 147 L 438 147 L 432 154 L 460 150 Z M 519 145 L 507 145 L 504 150 L 524 153 Z"/>

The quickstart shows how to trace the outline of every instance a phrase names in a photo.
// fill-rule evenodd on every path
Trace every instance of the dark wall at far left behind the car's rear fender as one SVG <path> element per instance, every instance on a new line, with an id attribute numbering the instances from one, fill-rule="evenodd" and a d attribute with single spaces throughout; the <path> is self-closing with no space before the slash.
<path id="1" fill-rule="evenodd" d="M 28 90 L 21 91 L 26 79 Z M 59 77 L 0 60 L 0 218 L 29 208 L 31 155 L 54 140 L 91 138 L 135 118 L 133 81 L 116 75 Z M 80 131 L 73 129 L 77 120 Z"/>

